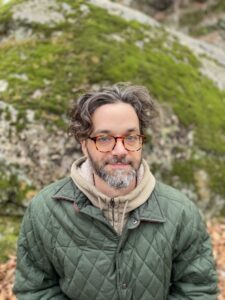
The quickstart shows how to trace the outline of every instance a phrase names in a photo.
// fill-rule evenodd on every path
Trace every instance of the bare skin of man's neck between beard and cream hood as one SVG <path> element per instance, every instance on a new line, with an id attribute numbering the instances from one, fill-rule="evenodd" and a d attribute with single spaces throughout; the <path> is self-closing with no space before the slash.
<path id="1" fill-rule="evenodd" d="M 124 196 L 129 194 L 131 191 L 133 191 L 137 185 L 137 180 L 136 178 L 131 182 L 131 184 L 122 189 L 115 189 L 108 185 L 104 180 L 102 180 L 98 175 L 93 174 L 93 179 L 94 179 L 94 185 L 96 188 L 106 196 L 110 198 L 118 197 L 118 196 Z"/>

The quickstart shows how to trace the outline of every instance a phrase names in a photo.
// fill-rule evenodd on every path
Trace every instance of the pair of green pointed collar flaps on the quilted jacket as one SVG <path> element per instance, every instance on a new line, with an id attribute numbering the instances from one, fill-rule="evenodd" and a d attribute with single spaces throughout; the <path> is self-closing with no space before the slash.
<path id="1" fill-rule="evenodd" d="M 154 222 L 154 223 L 164 223 L 166 221 L 165 216 L 162 212 L 159 198 L 156 193 L 156 186 L 149 197 L 149 199 L 139 206 L 137 209 L 131 213 L 131 218 L 133 220 L 132 224 L 129 224 L 129 228 L 135 228 L 140 223 L 140 221 Z M 52 196 L 56 200 L 66 200 L 71 201 L 74 204 L 74 208 L 77 212 L 86 213 L 92 217 L 96 217 L 96 210 L 100 212 L 98 208 L 95 209 L 88 200 L 88 198 L 76 187 L 71 178 L 56 190 L 55 194 Z M 90 207 L 91 206 L 91 207 Z M 99 219 L 99 214 L 98 219 Z M 135 222 L 136 220 L 136 222 Z"/>

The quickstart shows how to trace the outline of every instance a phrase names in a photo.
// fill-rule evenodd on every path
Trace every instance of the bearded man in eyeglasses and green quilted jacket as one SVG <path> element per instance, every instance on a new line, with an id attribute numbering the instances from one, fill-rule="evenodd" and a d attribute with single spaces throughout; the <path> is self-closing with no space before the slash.
<path id="1" fill-rule="evenodd" d="M 216 300 L 196 206 L 142 158 L 156 110 L 141 86 L 80 97 L 71 132 L 85 157 L 28 207 L 14 292 L 21 300 Z"/>

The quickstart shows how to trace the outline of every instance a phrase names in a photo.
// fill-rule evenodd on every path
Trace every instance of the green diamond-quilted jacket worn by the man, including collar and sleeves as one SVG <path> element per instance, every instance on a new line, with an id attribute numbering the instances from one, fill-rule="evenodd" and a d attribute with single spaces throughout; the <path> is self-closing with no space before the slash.
<path id="1" fill-rule="evenodd" d="M 217 276 L 198 209 L 157 182 L 119 236 L 71 178 L 29 205 L 18 241 L 19 300 L 216 300 Z"/>

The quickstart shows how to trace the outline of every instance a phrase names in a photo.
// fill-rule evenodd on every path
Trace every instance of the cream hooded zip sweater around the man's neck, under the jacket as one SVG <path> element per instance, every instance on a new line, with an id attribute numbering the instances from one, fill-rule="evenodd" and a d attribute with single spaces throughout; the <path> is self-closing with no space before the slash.
<path id="1" fill-rule="evenodd" d="M 93 181 L 93 169 L 89 159 L 82 157 L 71 167 L 71 178 L 91 203 L 100 208 L 118 234 L 122 233 L 129 213 L 143 204 L 155 187 L 155 178 L 145 160 L 138 170 L 137 186 L 125 196 L 112 198 L 97 190 Z"/>

